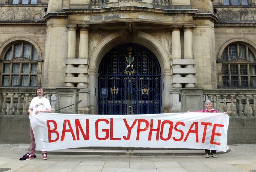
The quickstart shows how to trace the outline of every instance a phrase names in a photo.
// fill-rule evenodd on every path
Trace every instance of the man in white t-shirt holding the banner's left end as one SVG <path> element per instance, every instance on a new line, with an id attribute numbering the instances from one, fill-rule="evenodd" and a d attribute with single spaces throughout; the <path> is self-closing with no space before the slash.
<path id="1" fill-rule="evenodd" d="M 29 106 L 29 115 L 37 115 L 40 112 L 44 112 L 44 113 L 51 113 L 52 109 L 51 109 L 51 104 L 49 102 L 48 99 L 46 99 L 46 97 L 44 97 L 44 88 L 42 87 L 38 87 L 36 89 L 36 93 L 37 93 L 37 97 L 34 97 L 30 103 Z M 40 137 L 37 136 L 36 137 Z M 33 129 L 31 127 L 31 121 L 30 121 L 30 151 L 29 151 L 29 157 L 26 160 L 31 160 L 34 158 L 35 155 L 35 146 L 36 146 L 36 142 L 35 142 L 35 136 L 34 136 L 34 132 Z M 42 159 L 43 160 L 47 160 L 47 152 L 46 150 L 41 149 L 42 151 Z"/>

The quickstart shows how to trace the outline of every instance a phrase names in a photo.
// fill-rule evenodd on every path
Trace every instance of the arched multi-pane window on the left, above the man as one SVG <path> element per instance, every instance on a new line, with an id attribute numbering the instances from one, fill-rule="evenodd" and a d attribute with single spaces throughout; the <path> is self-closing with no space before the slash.
<path id="1" fill-rule="evenodd" d="M 6 51 L 1 60 L 1 86 L 38 86 L 41 69 L 38 72 L 38 53 L 28 42 L 16 42 Z M 39 65 L 41 66 L 41 65 Z"/>

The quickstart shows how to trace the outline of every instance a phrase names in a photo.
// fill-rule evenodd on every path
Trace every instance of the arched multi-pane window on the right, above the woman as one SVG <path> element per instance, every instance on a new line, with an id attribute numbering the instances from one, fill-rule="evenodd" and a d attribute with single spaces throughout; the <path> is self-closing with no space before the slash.
<path id="1" fill-rule="evenodd" d="M 246 44 L 232 43 L 222 53 L 222 86 L 256 88 L 255 50 Z"/>

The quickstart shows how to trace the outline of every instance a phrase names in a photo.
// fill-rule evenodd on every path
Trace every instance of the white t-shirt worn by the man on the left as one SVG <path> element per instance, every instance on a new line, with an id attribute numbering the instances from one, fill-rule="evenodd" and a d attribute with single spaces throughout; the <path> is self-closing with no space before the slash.
<path id="1" fill-rule="evenodd" d="M 51 109 L 51 104 L 46 97 L 34 97 L 31 100 L 31 103 L 29 105 L 29 108 L 32 109 L 32 114 L 35 114 L 35 111 L 38 110 L 47 110 Z"/>

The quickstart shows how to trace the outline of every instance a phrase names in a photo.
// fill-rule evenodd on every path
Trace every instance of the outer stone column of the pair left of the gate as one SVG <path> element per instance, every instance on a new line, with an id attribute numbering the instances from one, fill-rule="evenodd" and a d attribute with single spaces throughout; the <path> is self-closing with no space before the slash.
<path id="1" fill-rule="evenodd" d="M 76 25 L 67 25 L 68 28 L 68 52 L 67 58 L 75 58 L 76 56 Z M 66 68 L 74 67 L 73 64 L 67 64 Z M 66 77 L 74 77 L 73 73 L 66 73 Z M 66 82 L 66 87 L 74 87 L 74 83 Z"/>

